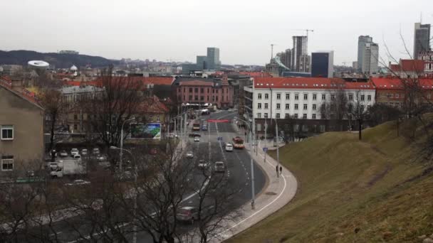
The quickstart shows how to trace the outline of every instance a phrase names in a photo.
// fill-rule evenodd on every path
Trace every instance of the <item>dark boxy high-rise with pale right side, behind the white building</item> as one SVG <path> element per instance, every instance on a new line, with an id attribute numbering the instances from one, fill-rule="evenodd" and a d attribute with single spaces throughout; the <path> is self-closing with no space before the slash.
<path id="1" fill-rule="evenodd" d="M 334 52 L 311 53 L 311 77 L 333 77 Z"/>

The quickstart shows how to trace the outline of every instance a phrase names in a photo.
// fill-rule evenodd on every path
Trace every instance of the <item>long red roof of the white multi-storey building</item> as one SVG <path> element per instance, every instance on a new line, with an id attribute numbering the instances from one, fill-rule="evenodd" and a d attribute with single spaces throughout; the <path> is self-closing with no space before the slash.
<path id="1" fill-rule="evenodd" d="M 340 78 L 324 77 L 256 77 L 256 88 L 374 90 L 371 82 L 345 82 Z"/>

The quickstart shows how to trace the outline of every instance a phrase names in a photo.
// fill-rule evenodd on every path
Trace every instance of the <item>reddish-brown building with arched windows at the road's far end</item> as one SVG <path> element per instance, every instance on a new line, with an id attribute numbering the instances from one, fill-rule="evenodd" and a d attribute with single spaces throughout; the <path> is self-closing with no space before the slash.
<path id="1" fill-rule="evenodd" d="M 228 77 L 222 80 L 179 78 L 175 81 L 178 104 L 213 104 L 218 108 L 233 107 L 234 89 Z"/>

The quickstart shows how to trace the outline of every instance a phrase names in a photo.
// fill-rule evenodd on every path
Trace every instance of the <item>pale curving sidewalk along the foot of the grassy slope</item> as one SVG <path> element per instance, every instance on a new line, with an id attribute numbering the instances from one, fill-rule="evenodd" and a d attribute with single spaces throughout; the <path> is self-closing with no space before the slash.
<path id="1" fill-rule="evenodd" d="M 234 125 L 236 131 L 237 127 Z M 240 135 L 244 137 L 244 134 Z M 251 144 L 248 145 L 250 151 L 254 151 L 251 149 Z M 246 146 L 246 148 L 248 147 Z M 288 171 L 287 168 L 283 167 L 283 173 L 276 177 L 276 166 L 277 161 L 274 160 L 271 156 L 266 156 L 266 162 L 264 161 L 264 152 L 261 149 L 262 146 L 259 146 L 258 155 L 256 156 L 256 152 L 254 151 L 253 158 L 256 161 L 257 165 L 261 167 L 262 171 L 266 174 L 268 183 L 267 187 L 263 189 L 263 191 L 256 198 L 255 210 L 251 210 L 251 204 L 247 203 L 242 207 L 244 211 L 244 217 L 239 222 L 231 223 L 229 229 L 224 230 L 219 234 L 221 239 L 216 239 L 215 242 L 222 242 L 226 239 L 233 237 L 240 232 L 243 232 L 245 229 L 256 225 L 256 223 L 264 220 L 264 218 L 271 215 L 273 212 L 276 212 L 281 207 L 290 202 L 296 195 L 296 190 L 298 189 L 298 181 L 291 171 Z"/>

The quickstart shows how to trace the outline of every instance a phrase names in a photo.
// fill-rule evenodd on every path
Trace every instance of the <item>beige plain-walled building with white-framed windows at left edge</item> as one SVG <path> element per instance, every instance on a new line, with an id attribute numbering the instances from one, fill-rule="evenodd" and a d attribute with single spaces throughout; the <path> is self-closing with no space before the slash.
<path id="1" fill-rule="evenodd" d="M 42 168 L 43 113 L 19 81 L 0 78 L 0 177 Z"/>

